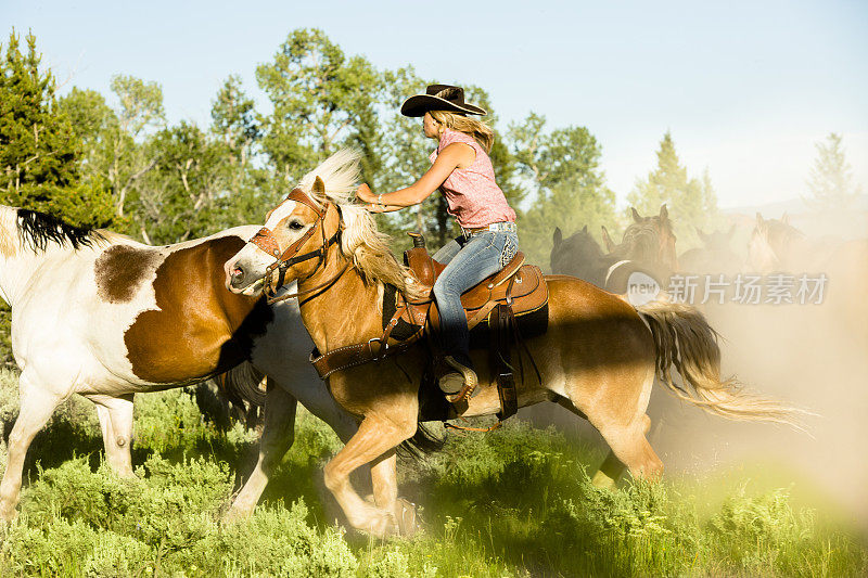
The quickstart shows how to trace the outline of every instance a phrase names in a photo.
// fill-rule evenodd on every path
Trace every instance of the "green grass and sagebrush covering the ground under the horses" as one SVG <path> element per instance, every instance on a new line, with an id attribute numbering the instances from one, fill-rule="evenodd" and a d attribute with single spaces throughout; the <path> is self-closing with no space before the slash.
<path id="1" fill-rule="evenodd" d="M 4 423 L 16 400 L 14 374 L 0 373 Z M 379 541 L 328 523 L 316 479 L 340 444 L 302 411 L 256 514 L 225 526 L 252 433 L 218 431 L 186 390 L 139 396 L 138 478 L 125 480 L 101 462 L 88 406 L 68 403 L 37 439 L 21 517 L 0 529 L 0 577 L 868 574 L 858 535 L 796 504 L 792 486 L 723 475 L 598 490 L 586 470 L 602 455 L 520 421 L 451 434 L 443 452 L 401 462 L 401 493 L 421 504 L 425 530 Z"/>

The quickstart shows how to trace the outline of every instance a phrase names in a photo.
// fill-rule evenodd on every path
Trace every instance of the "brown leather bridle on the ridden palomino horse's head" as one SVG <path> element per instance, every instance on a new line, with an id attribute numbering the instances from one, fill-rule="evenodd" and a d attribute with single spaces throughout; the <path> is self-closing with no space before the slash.
<path id="1" fill-rule="evenodd" d="M 283 286 L 283 283 L 286 278 L 286 270 L 290 267 L 310 259 L 318 259 L 319 262 L 317 264 L 317 267 L 315 267 L 314 271 L 305 278 L 309 279 L 310 277 L 314 275 L 314 273 L 317 272 L 317 270 L 319 270 L 320 266 L 324 268 L 324 266 L 327 265 L 327 256 L 329 254 L 329 248 L 333 244 L 340 242 L 341 240 L 340 227 L 332 236 L 330 236 L 328 240 L 326 239 L 326 214 L 329 211 L 329 206 L 331 205 L 331 203 L 327 202 L 326 208 L 320 209 L 319 206 L 317 206 L 317 204 L 314 203 L 314 201 L 307 195 L 307 193 L 305 193 L 301 189 L 293 189 L 290 192 L 290 194 L 286 195 L 286 198 L 283 200 L 283 203 L 285 203 L 286 201 L 294 201 L 296 203 L 301 203 L 309 207 L 314 213 L 316 213 L 317 218 L 314 221 L 314 226 L 310 227 L 310 229 L 308 229 L 305 232 L 305 234 L 301 236 L 301 239 L 298 239 L 292 245 L 286 247 L 286 249 L 283 251 L 282 253 L 280 251 L 280 245 L 278 244 L 277 239 L 275 239 L 273 232 L 266 227 L 259 229 L 256 232 L 256 234 L 253 235 L 253 237 L 251 237 L 250 241 L 247 241 L 247 243 L 253 243 L 265 253 L 268 253 L 270 256 L 275 257 L 275 262 L 266 267 L 265 278 L 263 279 L 264 283 L 263 293 L 265 294 L 266 301 L 269 305 L 282 301 L 284 299 L 297 297 L 299 295 L 305 295 L 307 293 L 312 293 L 323 287 L 328 287 L 335 281 L 337 281 L 341 278 L 341 275 L 344 274 L 344 271 L 346 271 L 347 267 L 349 266 L 349 261 L 347 261 L 347 264 L 344 265 L 344 268 L 341 270 L 340 273 L 337 273 L 337 275 L 327 281 L 326 283 L 317 285 L 316 287 L 307 288 L 305 291 L 297 291 L 292 294 L 281 295 L 280 297 L 277 296 L 278 290 L 280 290 L 280 287 Z M 281 205 L 283 203 L 281 203 Z M 337 205 L 334 205 L 334 207 L 340 215 L 341 207 L 339 207 Z M 311 251 L 303 255 L 296 255 L 298 251 L 301 251 L 302 245 L 304 245 L 311 236 L 314 236 L 314 232 L 317 230 L 317 226 L 319 226 L 320 233 L 322 234 L 322 245 L 316 251 Z M 272 273 L 276 270 L 278 271 L 277 282 L 275 282 L 272 275 Z M 301 282 L 304 281 L 305 279 L 299 279 L 298 281 Z"/>

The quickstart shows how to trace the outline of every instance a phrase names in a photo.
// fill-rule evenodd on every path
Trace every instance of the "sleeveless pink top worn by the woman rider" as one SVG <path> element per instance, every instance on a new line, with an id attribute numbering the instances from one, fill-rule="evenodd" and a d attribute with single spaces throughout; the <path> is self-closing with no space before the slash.
<path id="1" fill-rule="evenodd" d="M 434 163 L 437 154 L 454 142 L 473 146 L 476 158 L 468 168 L 452 170 L 441 185 L 441 192 L 449 206 L 449 215 L 458 219 L 458 224 L 464 229 L 477 229 L 493 222 L 514 222 L 515 211 L 495 182 L 492 159 L 473 137 L 447 128 L 441 136 L 437 150 L 431 153 L 431 162 Z"/>

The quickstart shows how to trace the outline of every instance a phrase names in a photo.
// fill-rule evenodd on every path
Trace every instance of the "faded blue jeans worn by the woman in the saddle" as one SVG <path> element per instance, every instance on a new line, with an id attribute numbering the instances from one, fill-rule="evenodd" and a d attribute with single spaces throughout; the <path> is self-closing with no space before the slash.
<path id="1" fill-rule="evenodd" d="M 469 237 L 461 235 L 448 242 L 434 259 L 447 264 L 434 283 L 434 298 L 441 316 L 442 347 L 447 356 L 468 368 L 470 332 L 461 294 L 495 274 L 509 264 L 519 251 L 519 235 L 507 231 L 482 231 Z"/>

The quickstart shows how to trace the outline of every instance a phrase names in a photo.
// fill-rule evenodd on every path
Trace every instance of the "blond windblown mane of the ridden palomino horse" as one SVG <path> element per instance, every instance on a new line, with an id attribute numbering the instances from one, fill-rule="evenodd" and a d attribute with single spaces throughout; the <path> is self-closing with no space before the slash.
<path id="1" fill-rule="evenodd" d="M 350 201 L 350 193 L 359 182 L 360 159 L 358 150 L 342 149 L 305 175 L 298 189 L 320 205 L 332 202 L 340 206 L 343 220 L 341 251 L 366 282 L 388 283 L 401 293 L 419 297 L 422 290 L 409 269 L 392 254 L 391 237 L 378 230 L 376 222 L 365 207 Z M 314 191 L 317 177 L 326 184 L 324 194 Z"/>

